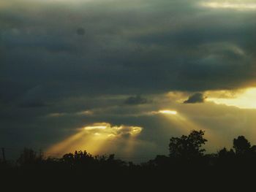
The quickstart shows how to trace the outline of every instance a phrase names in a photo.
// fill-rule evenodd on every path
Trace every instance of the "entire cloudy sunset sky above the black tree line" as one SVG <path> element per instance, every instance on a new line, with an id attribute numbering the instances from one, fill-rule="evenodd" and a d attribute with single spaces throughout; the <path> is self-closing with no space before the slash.
<path id="1" fill-rule="evenodd" d="M 1 0 L 0 147 L 168 154 L 256 143 L 255 0 Z"/>

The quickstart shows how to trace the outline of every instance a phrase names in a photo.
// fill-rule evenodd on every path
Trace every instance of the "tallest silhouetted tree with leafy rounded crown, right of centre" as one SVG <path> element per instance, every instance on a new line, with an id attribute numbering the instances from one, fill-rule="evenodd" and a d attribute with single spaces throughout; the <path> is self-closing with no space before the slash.
<path id="1" fill-rule="evenodd" d="M 175 158 L 195 158 L 203 155 L 204 149 L 201 149 L 207 140 L 203 138 L 204 131 L 191 131 L 189 136 L 182 135 L 170 138 L 169 152 L 170 157 Z"/>

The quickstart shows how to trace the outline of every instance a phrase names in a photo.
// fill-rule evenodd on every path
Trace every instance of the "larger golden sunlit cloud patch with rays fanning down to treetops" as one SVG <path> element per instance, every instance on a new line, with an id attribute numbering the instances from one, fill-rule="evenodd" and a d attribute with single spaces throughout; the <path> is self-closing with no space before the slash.
<path id="1" fill-rule="evenodd" d="M 77 133 L 51 146 L 46 153 L 63 155 L 75 150 L 87 150 L 96 155 L 118 147 L 117 143 L 125 146 L 123 149 L 125 152 L 132 153 L 135 138 L 142 130 L 140 126 L 111 126 L 110 123 L 93 123 L 79 128 Z"/>

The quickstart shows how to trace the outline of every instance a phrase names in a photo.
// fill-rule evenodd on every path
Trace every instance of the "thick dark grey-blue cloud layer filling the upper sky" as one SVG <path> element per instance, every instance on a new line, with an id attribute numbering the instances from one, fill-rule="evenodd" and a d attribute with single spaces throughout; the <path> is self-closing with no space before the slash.
<path id="1" fill-rule="evenodd" d="M 198 1 L 136 2 L 21 2 L 2 10 L 1 81 L 68 95 L 255 82 L 254 12 L 214 11 Z"/>

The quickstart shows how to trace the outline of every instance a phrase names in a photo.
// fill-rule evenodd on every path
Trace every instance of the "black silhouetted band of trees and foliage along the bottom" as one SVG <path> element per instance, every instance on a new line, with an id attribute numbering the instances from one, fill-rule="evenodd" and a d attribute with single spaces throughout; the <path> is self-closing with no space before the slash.
<path id="1" fill-rule="evenodd" d="M 205 154 L 203 145 L 207 140 L 203 136 L 204 131 L 191 131 L 188 136 L 171 137 L 169 155 L 157 155 L 142 164 L 121 161 L 115 155 L 94 156 L 81 150 L 50 158 L 24 149 L 17 162 L 0 160 L 0 172 L 4 184 L 20 183 L 9 185 L 10 188 L 55 185 L 57 191 L 70 184 L 72 191 L 75 188 L 89 191 L 89 186 L 94 191 L 134 190 L 138 186 L 156 191 L 166 186 L 179 191 L 203 191 L 206 186 L 217 190 L 220 186 L 222 190 L 238 185 L 243 190 L 249 187 L 254 178 L 250 175 L 256 171 L 256 146 L 239 136 L 233 139 L 232 149 L 224 147 L 217 153 Z"/>

